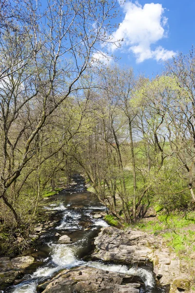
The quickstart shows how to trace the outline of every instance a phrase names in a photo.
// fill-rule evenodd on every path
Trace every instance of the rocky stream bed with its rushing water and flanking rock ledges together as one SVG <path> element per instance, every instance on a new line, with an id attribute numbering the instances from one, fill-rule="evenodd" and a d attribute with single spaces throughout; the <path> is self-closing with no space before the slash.
<path id="1" fill-rule="evenodd" d="M 109 227 L 102 219 L 105 207 L 86 190 L 81 176 L 74 180 L 75 186 L 48 199 L 45 211 L 53 222 L 36 228 L 40 241 L 36 251 L 28 251 L 31 262 L 22 269 L 21 259 L 4 259 L 4 293 L 160 293 L 168 292 L 170 284 L 173 293 L 190 292 L 190 280 L 181 279 L 175 256 L 162 255 L 154 236 Z M 13 279 L 6 280 L 10 272 Z"/>

